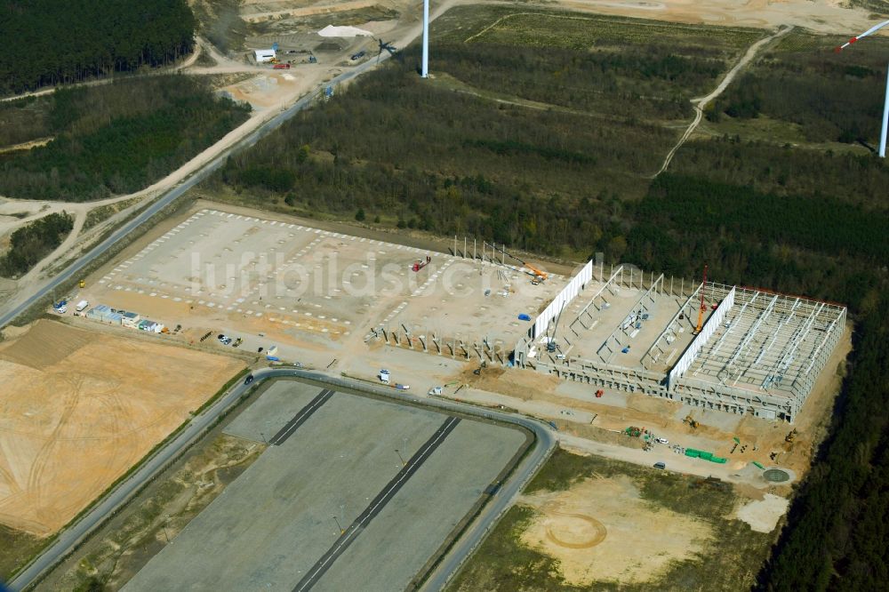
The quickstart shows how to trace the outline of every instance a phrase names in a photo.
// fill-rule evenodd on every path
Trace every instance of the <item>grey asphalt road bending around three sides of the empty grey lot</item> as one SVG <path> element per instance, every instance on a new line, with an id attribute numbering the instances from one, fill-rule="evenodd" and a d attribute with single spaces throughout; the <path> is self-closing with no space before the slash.
<path id="1" fill-rule="evenodd" d="M 148 460 L 145 460 L 132 476 L 118 484 L 114 490 L 108 492 L 104 498 L 99 500 L 76 523 L 69 524 L 67 528 L 62 530 L 52 545 L 45 548 L 43 553 L 37 556 L 34 561 L 28 564 L 28 567 L 10 582 L 10 588 L 13 591 L 19 591 L 35 584 L 44 573 L 51 570 L 54 565 L 72 553 L 86 537 L 99 528 L 109 517 L 114 516 L 128 500 L 131 500 L 132 497 L 140 492 L 142 487 L 150 483 L 164 468 L 178 460 L 180 454 L 188 450 L 190 444 L 195 443 L 213 428 L 216 420 L 224 412 L 227 412 L 242 396 L 245 396 L 252 388 L 259 386 L 264 380 L 276 378 L 311 380 L 328 385 L 331 388 L 346 388 L 359 393 L 383 396 L 402 404 L 419 404 L 440 412 L 459 413 L 480 420 L 508 423 L 525 428 L 533 433 L 533 449 L 527 452 L 525 457 L 519 461 L 506 482 L 501 485 L 501 489 L 485 504 L 479 515 L 469 524 L 467 530 L 462 532 L 458 540 L 446 552 L 443 559 L 429 574 L 423 585 L 424 589 L 440 590 L 445 587 L 446 583 L 451 580 L 479 543 L 485 539 L 485 535 L 490 532 L 497 520 L 512 506 L 522 487 L 537 473 L 543 463 L 549 459 L 549 455 L 555 450 L 557 444 L 557 438 L 549 427 L 541 421 L 532 420 L 523 415 L 479 409 L 469 404 L 456 403 L 445 399 L 407 395 L 391 388 L 382 388 L 358 380 L 332 377 L 320 372 L 296 368 L 263 368 L 254 370 L 252 376 L 254 380 L 249 385 L 245 385 L 244 380 L 238 380 L 223 396 L 220 396 L 216 403 L 212 404 L 200 415 L 192 418 L 179 436 L 173 438 Z"/>

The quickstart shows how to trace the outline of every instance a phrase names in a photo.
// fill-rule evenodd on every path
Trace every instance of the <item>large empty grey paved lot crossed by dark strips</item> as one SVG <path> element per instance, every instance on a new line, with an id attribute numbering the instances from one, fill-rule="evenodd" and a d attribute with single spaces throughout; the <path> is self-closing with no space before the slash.
<path id="1" fill-rule="evenodd" d="M 294 380 L 226 431 L 268 449 L 126 589 L 407 588 L 526 442 Z"/>

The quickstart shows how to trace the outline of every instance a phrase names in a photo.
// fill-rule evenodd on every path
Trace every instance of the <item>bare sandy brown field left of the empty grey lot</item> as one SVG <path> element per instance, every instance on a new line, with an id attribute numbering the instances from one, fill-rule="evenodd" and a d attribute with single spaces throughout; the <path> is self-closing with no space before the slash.
<path id="1" fill-rule="evenodd" d="M 243 363 L 38 321 L 0 346 L 0 523 L 46 536 Z"/>

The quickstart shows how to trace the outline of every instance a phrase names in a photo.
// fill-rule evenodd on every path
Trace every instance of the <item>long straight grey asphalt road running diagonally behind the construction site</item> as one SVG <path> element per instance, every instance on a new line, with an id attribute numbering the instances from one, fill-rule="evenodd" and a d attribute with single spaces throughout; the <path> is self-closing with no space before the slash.
<path id="1" fill-rule="evenodd" d="M 388 60 L 388 58 L 389 54 L 387 52 L 380 56 L 380 61 Z M 351 78 L 354 78 L 355 76 L 364 74 L 364 72 L 375 67 L 376 65 L 377 60 L 365 61 L 363 64 L 356 66 L 348 72 L 344 72 L 343 74 L 340 74 L 340 76 L 334 77 L 330 82 L 325 83 L 324 86 L 334 86 L 336 84 L 344 83 Z M 266 123 L 261 124 L 260 127 L 258 127 L 252 133 L 244 136 L 244 138 L 242 138 L 241 140 L 238 140 L 234 146 L 228 148 L 228 150 L 224 150 L 219 156 L 216 156 L 216 158 L 213 158 L 212 161 L 204 164 L 203 167 L 192 173 L 192 175 L 188 177 L 188 179 L 182 181 L 176 187 L 169 189 L 153 204 L 149 205 L 148 208 L 146 208 L 143 212 L 138 214 L 129 222 L 126 222 L 121 228 L 118 228 L 111 236 L 108 236 L 108 238 L 106 238 L 100 244 L 97 244 L 95 247 L 92 248 L 92 250 L 84 254 L 83 257 L 76 260 L 74 263 L 69 265 L 68 268 L 65 268 L 63 271 L 61 271 L 58 276 L 53 277 L 48 284 L 45 284 L 42 288 L 36 289 L 36 292 L 28 296 L 28 298 L 22 301 L 18 306 L 13 307 L 12 309 L 7 309 L 5 312 L 0 313 L 0 329 L 5 327 L 7 324 L 12 323 L 12 320 L 14 320 L 16 316 L 19 316 L 20 314 L 28 310 L 28 308 L 34 306 L 38 300 L 43 299 L 48 294 L 52 294 L 52 292 L 56 290 L 61 284 L 76 276 L 78 272 L 89 265 L 93 260 L 96 260 L 98 257 L 101 256 L 102 253 L 108 251 L 111 246 L 123 239 L 124 236 L 129 235 L 136 228 L 140 227 L 157 212 L 163 210 L 167 205 L 172 204 L 173 201 L 182 196 L 186 191 L 188 191 L 188 189 L 195 187 L 202 180 L 209 177 L 212 172 L 220 168 L 222 164 L 225 164 L 228 156 L 232 156 L 237 152 L 241 152 L 246 148 L 252 147 L 254 144 L 256 144 L 256 142 L 266 137 L 269 133 L 274 132 L 277 128 L 281 127 L 281 125 L 284 124 L 284 122 L 290 119 L 292 116 L 299 113 L 302 109 L 307 108 L 316 96 L 316 92 L 307 94 L 300 100 L 297 100 L 295 103 L 293 103 L 292 107 L 285 109 L 280 114 L 269 119 Z"/>

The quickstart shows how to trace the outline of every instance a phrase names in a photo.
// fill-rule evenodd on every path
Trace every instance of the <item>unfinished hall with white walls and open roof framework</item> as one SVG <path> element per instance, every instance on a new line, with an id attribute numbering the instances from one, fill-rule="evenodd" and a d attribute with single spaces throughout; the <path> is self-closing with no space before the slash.
<path id="1" fill-rule="evenodd" d="M 605 272 L 589 262 L 574 276 L 518 341 L 518 366 L 793 421 L 845 331 L 845 307 L 829 302 L 724 284 L 677 286 L 624 267 Z M 697 332 L 701 290 L 707 304 Z M 639 346 L 641 356 L 629 354 Z"/>

